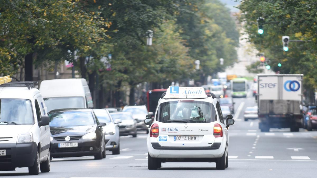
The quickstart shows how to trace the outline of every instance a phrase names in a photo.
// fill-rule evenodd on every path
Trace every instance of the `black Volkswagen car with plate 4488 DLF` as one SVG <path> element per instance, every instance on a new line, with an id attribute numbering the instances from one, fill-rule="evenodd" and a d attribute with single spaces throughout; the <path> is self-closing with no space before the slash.
<path id="1" fill-rule="evenodd" d="M 92 109 L 56 109 L 49 112 L 51 156 L 106 157 L 102 126 Z"/>

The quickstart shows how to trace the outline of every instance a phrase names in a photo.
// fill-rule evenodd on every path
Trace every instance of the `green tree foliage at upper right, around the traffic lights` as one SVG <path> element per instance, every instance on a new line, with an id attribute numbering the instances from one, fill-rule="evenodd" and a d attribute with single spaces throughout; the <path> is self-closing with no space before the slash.
<path id="1" fill-rule="evenodd" d="M 271 61 L 271 69 L 281 73 L 302 73 L 305 82 L 317 87 L 317 4 L 314 0 L 246 0 L 239 9 L 242 11 L 241 21 L 249 33 L 249 41 Z M 265 20 L 263 35 L 256 32 L 258 17 Z M 289 50 L 284 52 L 282 36 L 290 36 L 290 40 L 310 41 L 291 41 Z M 276 67 L 278 63 L 282 66 Z"/>

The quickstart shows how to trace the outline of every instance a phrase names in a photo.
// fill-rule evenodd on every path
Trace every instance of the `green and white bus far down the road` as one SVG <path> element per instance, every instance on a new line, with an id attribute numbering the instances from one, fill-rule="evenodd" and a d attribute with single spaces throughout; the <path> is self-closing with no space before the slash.
<path id="1" fill-rule="evenodd" d="M 231 80 L 231 96 L 232 98 L 247 97 L 248 80 L 245 78 L 235 78 Z"/>

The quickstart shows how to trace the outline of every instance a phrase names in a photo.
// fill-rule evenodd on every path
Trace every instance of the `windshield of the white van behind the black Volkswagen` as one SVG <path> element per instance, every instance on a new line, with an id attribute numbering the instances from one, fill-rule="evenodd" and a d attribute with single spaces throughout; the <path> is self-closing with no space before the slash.
<path id="1" fill-rule="evenodd" d="M 84 97 L 54 97 L 44 98 L 47 111 L 63 108 L 85 108 Z"/>

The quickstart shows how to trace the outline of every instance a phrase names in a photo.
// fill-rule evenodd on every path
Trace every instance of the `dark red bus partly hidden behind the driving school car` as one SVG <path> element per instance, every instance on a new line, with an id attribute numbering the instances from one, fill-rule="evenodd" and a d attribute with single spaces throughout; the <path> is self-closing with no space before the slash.
<path id="1" fill-rule="evenodd" d="M 159 99 L 167 89 L 154 89 L 147 91 L 147 111 L 155 114 Z"/>

